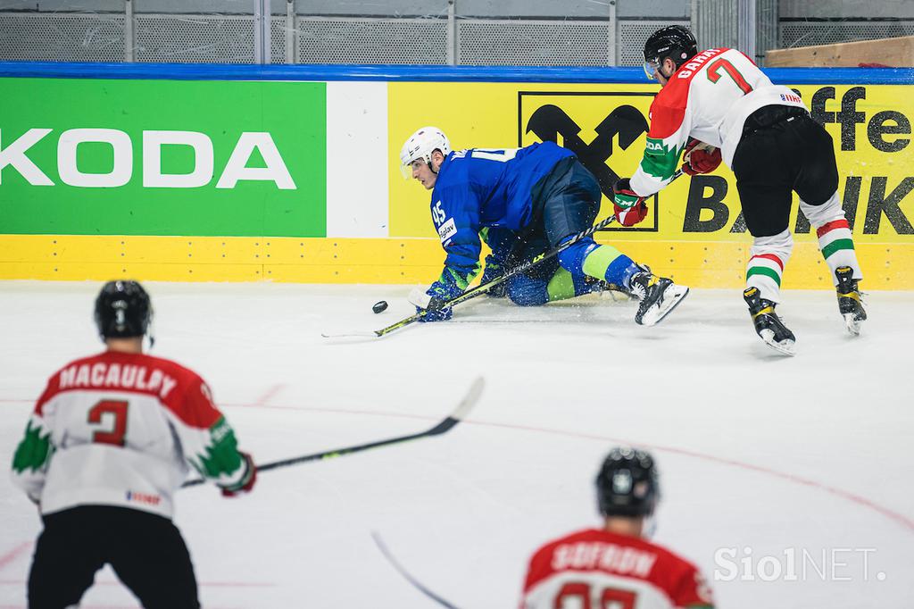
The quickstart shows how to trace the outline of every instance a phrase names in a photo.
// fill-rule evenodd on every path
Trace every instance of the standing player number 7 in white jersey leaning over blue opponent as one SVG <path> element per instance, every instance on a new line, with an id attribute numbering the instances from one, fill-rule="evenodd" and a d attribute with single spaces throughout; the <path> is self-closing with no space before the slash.
<path id="1" fill-rule="evenodd" d="M 818 235 L 845 325 L 859 334 L 866 319 L 857 288 L 863 274 L 838 198 L 834 145 L 800 96 L 772 84 L 739 50 L 699 53 L 695 37 L 681 26 L 664 27 L 647 39 L 644 71 L 662 89 L 651 104 L 641 165 L 614 187 L 620 219 L 629 217 L 623 223 L 643 219 L 644 198 L 669 184 L 684 150 L 683 170 L 692 175 L 713 171 L 722 157 L 737 178 L 746 227 L 754 239 L 743 297 L 759 336 L 793 355 L 795 338 L 774 311 L 793 247 L 788 228 L 792 192 Z M 718 150 L 702 150 L 698 143 Z"/>

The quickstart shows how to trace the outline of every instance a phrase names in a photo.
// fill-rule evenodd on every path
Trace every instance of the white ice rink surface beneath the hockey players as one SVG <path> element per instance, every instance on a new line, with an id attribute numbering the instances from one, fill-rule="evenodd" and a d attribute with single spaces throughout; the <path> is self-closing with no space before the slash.
<path id="1" fill-rule="evenodd" d="M 101 350 L 100 287 L 0 283 L 5 463 L 48 375 Z M 482 298 L 452 322 L 327 340 L 409 315 L 409 286 L 147 288 L 154 355 L 207 379 L 260 462 L 419 432 L 486 380 L 446 435 L 263 473 L 239 499 L 181 491 L 207 607 L 435 606 L 372 531 L 453 604 L 516 606 L 531 552 L 598 524 L 593 478 L 622 442 L 653 450 L 654 540 L 696 562 L 719 607 L 914 606 L 914 294 L 869 294 L 854 338 L 834 293 L 786 292 L 799 354 L 784 358 L 737 290 L 695 290 L 653 328 L 609 294 L 539 309 Z M 0 607 L 24 607 L 40 521 L 8 476 L 0 521 Z M 82 606 L 137 604 L 105 570 Z"/>

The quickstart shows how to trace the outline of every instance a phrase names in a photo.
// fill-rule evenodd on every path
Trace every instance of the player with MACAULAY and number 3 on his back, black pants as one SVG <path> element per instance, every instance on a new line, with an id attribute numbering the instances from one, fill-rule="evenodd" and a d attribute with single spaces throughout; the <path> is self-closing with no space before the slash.
<path id="1" fill-rule="evenodd" d="M 44 530 L 28 577 L 31 609 L 78 606 L 106 563 L 146 609 L 199 607 L 193 564 L 172 523 L 192 465 L 234 496 L 256 467 L 206 383 L 143 354 L 152 306 L 139 283 L 110 282 L 95 303 L 107 350 L 48 380 L 13 457 L 13 481 Z"/>

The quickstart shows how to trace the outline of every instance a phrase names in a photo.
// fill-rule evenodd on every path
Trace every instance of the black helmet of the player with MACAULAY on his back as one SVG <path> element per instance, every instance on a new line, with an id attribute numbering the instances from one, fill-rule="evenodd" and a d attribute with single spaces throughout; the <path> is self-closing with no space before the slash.
<path id="1" fill-rule="evenodd" d="M 143 337 L 152 316 L 149 294 L 133 281 L 105 283 L 95 299 L 95 325 L 102 339 Z"/>

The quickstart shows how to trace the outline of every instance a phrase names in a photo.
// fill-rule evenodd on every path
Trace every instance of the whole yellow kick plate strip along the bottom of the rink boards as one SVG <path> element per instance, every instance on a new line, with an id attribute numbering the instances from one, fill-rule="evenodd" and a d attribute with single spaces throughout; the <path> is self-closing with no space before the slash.
<path id="1" fill-rule="evenodd" d="M 698 288 L 739 288 L 749 242 L 613 242 L 654 272 Z M 914 289 L 914 244 L 863 243 L 865 290 Z M 432 239 L 0 236 L 0 277 L 58 281 L 133 278 L 175 282 L 428 284 L 443 251 Z M 788 289 L 831 288 L 814 243 L 798 243 L 783 276 Z"/>

